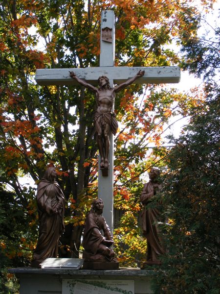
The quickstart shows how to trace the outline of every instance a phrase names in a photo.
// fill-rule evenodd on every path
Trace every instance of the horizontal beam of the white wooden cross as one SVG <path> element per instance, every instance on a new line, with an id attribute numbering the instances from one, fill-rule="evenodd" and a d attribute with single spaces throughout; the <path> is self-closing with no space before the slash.
<path id="1" fill-rule="evenodd" d="M 73 71 L 80 78 L 85 79 L 92 85 L 97 85 L 98 77 L 106 75 L 113 79 L 114 84 L 121 84 L 133 77 L 139 70 L 145 71 L 142 77 L 135 80 L 136 84 L 164 84 L 178 83 L 180 69 L 177 66 L 167 67 L 91 67 L 85 69 L 39 69 L 35 79 L 39 85 L 79 85 L 69 76 Z"/>

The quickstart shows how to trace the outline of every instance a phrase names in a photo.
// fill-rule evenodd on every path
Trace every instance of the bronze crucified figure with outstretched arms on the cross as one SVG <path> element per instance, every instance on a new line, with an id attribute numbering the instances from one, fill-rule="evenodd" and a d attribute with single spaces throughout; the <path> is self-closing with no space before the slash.
<path id="1" fill-rule="evenodd" d="M 77 77 L 75 73 L 70 72 L 72 78 L 95 93 L 97 110 L 94 113 L 94 124 L 97 132 L 98 149 L 101 156 L 101 169 L 109 169 L 109 132 L 111 131 L 111 133 L 115 135 L 118 128 L 115 113 L 112 112 L 115 93 L 132 84 L 138 77 L 143 76 L 144 73 L 145 71 L 139 71 L 135 76 L 114 88 L 110 87 L 109 78 L 103 75 L 98 78 L 99 87 L 96 88 L 88 84 L 85 80 Z"/>

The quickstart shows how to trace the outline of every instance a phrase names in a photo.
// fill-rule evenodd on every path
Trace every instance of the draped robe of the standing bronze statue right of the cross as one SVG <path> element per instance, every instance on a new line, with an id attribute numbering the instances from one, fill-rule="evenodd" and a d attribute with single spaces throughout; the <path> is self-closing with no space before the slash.
<path id="1" fill-rule="evenodd" d="M 154 186 L 151 180 L 144 184 L 140 200 L 144 205 L 142 212 L 143 234 L 147 238 L 147 261 L 158 261 L 158 256 L 164 254 L 159 236 L 157 222 L 160 221 L 160 213 L 157 208 L 146 207 L 154 196 Z"/>

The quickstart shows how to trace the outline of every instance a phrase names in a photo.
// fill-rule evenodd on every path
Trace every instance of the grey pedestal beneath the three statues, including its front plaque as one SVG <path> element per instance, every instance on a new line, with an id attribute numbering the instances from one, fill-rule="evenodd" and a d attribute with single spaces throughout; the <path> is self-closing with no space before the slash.
<path id="1" fill-rule="evenodd" d="M 131 285 L 131 294 L 151 294 L 151 280 L 154 274 L 153 270 L 140 270 L 120 268 L 120 270 L 72 270 L 72 269 L 33 269 L 17 268 L 9 269 L 10 273 L 16 274 L 20 279 L 20 294 L 72 294 L 76 291 L 68 290 L 66 285 L 76 285 L 77 294 L 99 294 L 99 293 L 120 293 L 117 288 L 127 284 Z M 103 281 L 103 283 L 102 283 Z M 96 283 L 96 284 L 95 284 Z M 106 283 L 113 285 L 100 292 L 100 288 Z M 91 285 L 98 285 L 93 290 Z M 120 286 L 121 285 L 121 286 Z M 75 286 L 73 286 L 75 287 Z M 89 288 L 90 287 L 90 288 Z M 99 290 L 98 290 L 99 289 Z M 134 289 L 134 290 L 133 290 Z M 82 291 L 82 292 L 81 292 Z M 118 291 L 118 292 L 117 292 Z M 134 291 L 134 292 L 133 292 Z M 81 292 L 81 293 L 80 293 Z"/>

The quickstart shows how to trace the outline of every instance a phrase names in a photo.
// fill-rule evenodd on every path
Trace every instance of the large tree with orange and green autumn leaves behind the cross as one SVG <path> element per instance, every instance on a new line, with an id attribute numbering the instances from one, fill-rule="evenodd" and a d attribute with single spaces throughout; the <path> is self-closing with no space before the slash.
<path id="1" fill-rule="evenodd" d="M 78 256 L 85 214 L 97 192 L 94 97 L 83 87 L 40 87 L 34 73 L 44 67 L 98 66 L 103 9 L 113 9 L 116 15 L 117 66 L 176 65 L 177 55 L 165 45 L 176 35 L 181 39 L 186 27 L 193 34 L 199 25 L 197 9 L 185 1 L 89 0 L 88 9 L 83 0 L 0 4 L 1 182 L 16 193 L 23 212 L 34 211 L 30 223 L 36 236 L 34 188 L 26 193 L 20 177 L 28 174 L 37 183 L 48 163 L 58 166 L 66 199 L 62 243 L 73 257 Z M 115 203 L 126 208 L 128 216 L 134 212 L 135 217 L 140 209 L 136 179 L 140 189 L 140 173 L 159 160 L 158 152 L 146 160 L 149 142 L 159 145 L 171 114 L 185 116 L 200 101 L 197 96 L 160 90 L 156 85 L 132 85 L 115 103 L 122 123 L 116 138 Z"/>

